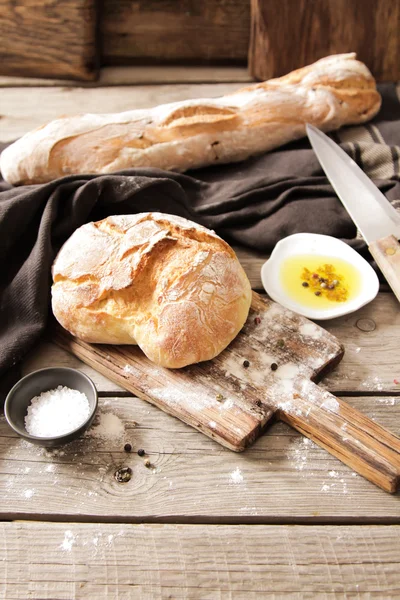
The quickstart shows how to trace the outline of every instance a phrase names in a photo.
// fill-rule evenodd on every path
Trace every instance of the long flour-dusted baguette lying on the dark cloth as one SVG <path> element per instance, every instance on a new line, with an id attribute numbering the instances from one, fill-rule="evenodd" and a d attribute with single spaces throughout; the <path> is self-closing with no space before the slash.
<path id="1" fill-rule="evenodd" d="M 6 148 L 0 167 L 14 185 L 132 167 L 186 171 L 271 150 L 303 137 L 306 123 L 363 123 L 380 104 L 367 67 L 338 54 L 220 98 L 57 119 Z"/>

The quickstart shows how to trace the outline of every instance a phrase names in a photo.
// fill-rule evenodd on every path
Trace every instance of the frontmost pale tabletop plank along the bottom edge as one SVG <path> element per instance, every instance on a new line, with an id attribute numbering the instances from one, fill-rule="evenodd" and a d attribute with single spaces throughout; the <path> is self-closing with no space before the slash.
<path id="1" fill-rule="evenodd" d="M 398 598 L 400 528 L 2 523 L 8 600 Z"/>

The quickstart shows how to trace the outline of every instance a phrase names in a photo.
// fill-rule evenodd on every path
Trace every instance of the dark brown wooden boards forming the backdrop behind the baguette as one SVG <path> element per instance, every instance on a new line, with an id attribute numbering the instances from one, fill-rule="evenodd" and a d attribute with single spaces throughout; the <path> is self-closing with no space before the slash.
<path id="1" fill-rule="evenodd" d="M 248 64 L 268 79 L 350 51 L 378 81 L 400 79 L 400 0 L 0 0 L 2 75 Z"/>

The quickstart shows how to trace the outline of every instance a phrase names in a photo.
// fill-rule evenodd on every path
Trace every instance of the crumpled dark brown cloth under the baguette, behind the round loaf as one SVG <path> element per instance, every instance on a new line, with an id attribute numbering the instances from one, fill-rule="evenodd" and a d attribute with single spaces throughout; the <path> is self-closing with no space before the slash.
<path id="1" fill-rule="evenodd" d="M 380 91 L 382 109 L 372 122 L 332 137 L 396 201 L 400 102 L 395 85 Z M 141 168 L 15 188 L 0 181 L 0 377 L 45 329 L 51 265 L 63 242 L 88 221 L 147 211 L 186 217 L 230 243 L 264 252 L 287 235 L 314 232 L 341 238 L 368 256 L 306 139 L 185 175 Z"/>

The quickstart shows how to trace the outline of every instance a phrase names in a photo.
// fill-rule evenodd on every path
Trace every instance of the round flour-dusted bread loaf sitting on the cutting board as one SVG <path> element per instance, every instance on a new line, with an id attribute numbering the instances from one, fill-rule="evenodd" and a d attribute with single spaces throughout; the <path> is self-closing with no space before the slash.
<path id="1" fill-rule="evenodd" d="M 77 229 L 53 265 L 52 307 L 73 335 L 138 344 L 170 368 L 209 360 L 243 327 L 251 288 L 213 231 L 162 213 Z"/>

